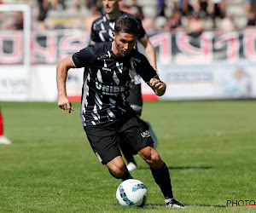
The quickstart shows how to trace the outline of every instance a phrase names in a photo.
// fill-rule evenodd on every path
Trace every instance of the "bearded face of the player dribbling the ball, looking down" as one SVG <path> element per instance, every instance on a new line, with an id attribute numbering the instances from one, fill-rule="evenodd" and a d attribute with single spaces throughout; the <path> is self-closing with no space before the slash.
<path id="1" fill-rule="evenodd" d="M 137 36 L 126 32 L 113 32 L 113 53 L 117 57 L 124 58 L 131 53 L 137 42 Z"/>

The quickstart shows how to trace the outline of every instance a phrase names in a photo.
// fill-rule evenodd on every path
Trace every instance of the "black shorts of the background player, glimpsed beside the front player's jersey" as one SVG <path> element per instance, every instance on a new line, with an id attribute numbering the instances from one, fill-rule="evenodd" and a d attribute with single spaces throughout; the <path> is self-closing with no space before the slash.
<path id="1" fill-rule="evenodd" d="M 141 84 L 132 84 L 129 92 L 130 95 L 127 100 L 129 101 L 131 108 L 137 113 L 137 115 L 141 116 L 143 110 L 143 96 Z"/>

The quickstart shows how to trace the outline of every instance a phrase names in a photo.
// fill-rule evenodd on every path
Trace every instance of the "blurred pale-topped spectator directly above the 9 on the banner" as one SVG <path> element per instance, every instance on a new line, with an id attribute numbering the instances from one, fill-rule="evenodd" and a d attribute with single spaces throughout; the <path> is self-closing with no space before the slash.
<path id="1" fill-rule="evenodd" d="M 190 37 L 199 37 L 203 32 L 203 21 L 201 20 L 200 13 L 198 11 L 194 11 L 191 15 L 189 15 L 188 26 L 187 26 L 187 34 Z"/>

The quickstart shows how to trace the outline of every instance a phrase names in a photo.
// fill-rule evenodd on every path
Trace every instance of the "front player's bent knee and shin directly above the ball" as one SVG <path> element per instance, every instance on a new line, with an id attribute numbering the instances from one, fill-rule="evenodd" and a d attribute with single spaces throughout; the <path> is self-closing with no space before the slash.
<path id="1" fill-rule="evenodd" d="M 113 158 L 108 164 L 106 164 L 109 170 L 109 173 L 117 178 L 121 179 L 122 181 L 133 179 L 129 170 L 127 170 L 125 166 L 125 162 L 121 156 Z"/>

